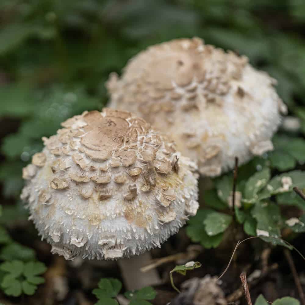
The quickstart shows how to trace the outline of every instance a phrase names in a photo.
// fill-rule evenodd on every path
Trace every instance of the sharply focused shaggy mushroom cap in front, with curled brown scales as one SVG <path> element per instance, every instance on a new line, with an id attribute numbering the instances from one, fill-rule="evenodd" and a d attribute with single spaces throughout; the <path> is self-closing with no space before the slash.
<path id="1" fill-rule="evenodd" d="M 23 168 L 30 219 L 67 260 L 117 259 L 160 247 L 198 209 L 196 164 L 129 112 L 62 123 Z"/>

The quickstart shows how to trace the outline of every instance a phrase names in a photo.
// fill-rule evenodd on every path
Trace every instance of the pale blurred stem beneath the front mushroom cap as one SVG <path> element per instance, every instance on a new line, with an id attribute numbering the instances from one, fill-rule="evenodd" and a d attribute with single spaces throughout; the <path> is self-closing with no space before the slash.
<path id="1" fill-rule="evenodd" d="M 152 261 L 150 252 L 131 258 L 118 260 L 124 284 L 127 290 L 138 290 L 146 286 L 160 284 L 161 278 L 156 269 L 142 272 L 140 269 Z"/>

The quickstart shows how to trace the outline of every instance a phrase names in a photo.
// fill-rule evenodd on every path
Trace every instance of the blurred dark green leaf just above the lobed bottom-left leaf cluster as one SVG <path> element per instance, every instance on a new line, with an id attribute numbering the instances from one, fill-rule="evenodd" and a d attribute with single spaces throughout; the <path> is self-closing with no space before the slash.
<path id="1" fill-rule="evenodd" d="M 29 260 L 34 260 L 36 258 L 36 253 L 31 248 L 13 242 L 1 249 L 0 258 L 2 260 L 17 259 L 17 260 L 29 261 Z"/>

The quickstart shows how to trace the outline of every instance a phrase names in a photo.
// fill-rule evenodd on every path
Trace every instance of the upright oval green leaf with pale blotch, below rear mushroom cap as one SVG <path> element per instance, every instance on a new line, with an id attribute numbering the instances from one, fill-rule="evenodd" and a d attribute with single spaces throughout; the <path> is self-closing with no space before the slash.
<path id="1" fill-rule="evenodd" d="M 246 199 L 257 199 L 257 193 L 266 186 L 271 176 L 270 169 L 265 168 L 252 177 L 246 182 L 244 196 Z"/>

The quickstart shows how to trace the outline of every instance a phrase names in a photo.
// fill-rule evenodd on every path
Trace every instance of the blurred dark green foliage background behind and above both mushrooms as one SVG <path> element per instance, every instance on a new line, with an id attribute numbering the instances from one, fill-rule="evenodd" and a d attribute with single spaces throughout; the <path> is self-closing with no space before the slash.
<path id="1" fill-rule="evenodd" d="M 41 149 L 41 136 L 85 109 L 101 109 L 109 73 L 172 38 L 199 36 L 249 56 L 278 80 L 305 132 L 303 1 L 3 0 L 0 16 L 5 197 L 18 198 L 21 168 Z"/>

